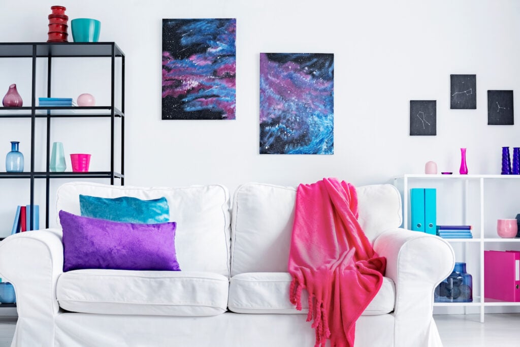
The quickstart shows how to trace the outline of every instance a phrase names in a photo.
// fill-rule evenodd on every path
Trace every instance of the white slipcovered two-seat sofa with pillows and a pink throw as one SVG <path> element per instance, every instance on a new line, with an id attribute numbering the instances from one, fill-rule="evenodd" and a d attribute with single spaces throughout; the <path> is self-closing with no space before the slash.
<path id="1" fill-rule="evenodd" d="M 359 222 L 387 268 L 357 321 L 355 345 L 441 345 L 433 292 L 451 273 L 452 248 L 399 228 L 401 200 L 392 185 L 357 189 Z M 0 243 L 0 273 L 18 300 L 12 346 L 314 346 L 305 306 L 296 311 L 289 302 L 295 188 L 244 184 L 230 203 L 220 185 L 75 182 L 58 189 L 57 210 L 80 214 L 79 194 L 166 197 L 182 271 L 63 273 L 59 229 L 9 236 Z"/>

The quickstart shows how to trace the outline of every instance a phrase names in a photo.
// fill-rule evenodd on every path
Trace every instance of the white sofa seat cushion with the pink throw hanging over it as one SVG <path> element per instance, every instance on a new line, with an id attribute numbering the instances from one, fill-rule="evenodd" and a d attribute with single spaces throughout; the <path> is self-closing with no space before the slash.
<path id="1" fill-rule="evenodd" d="M 229 310 L 236 313 L 307 314 L 308 295 L 302 292 L 302 311 L 289 301 L 291 275 L 284 272 L 243 273 L 231 277 L 229 283 Z M 378 294 L 362 315 L 380 315 L 394 311 L 395 284 L 383 277 Z"/>

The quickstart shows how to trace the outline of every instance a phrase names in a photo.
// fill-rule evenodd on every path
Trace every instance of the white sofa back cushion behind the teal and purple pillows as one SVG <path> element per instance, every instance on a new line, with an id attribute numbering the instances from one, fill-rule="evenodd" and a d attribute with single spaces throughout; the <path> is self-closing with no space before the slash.
<path id="1" fill-rule="evenodd" d="M 80 215 L 80 194 L 142 200 L 165 197 L 170 207 L 170 221 L 177 223 L 175 249 L 180 268 L 229 276 L 230 214 L 226 187 L 146 188 L 71 182 L 58 188 L 57 211 Z"/>

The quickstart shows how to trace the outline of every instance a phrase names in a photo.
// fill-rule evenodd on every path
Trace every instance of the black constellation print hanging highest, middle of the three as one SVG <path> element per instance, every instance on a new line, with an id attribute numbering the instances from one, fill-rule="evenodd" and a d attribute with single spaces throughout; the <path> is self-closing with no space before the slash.
<path id="1" fill-rule="evenodd" d="M 450 109 L 477 108 L 477 75 L 450 75 Z"/>

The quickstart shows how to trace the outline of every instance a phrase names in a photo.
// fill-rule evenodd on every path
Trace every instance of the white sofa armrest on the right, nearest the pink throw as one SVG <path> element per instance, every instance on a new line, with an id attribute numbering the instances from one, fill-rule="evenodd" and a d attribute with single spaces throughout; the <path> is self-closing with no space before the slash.
<path id="1" fill-rule="evenodd" d="M 395 282 L 395 345 L 419 346 L 437 338 L 430 336 L 438 336 L 432 329 L 433 293 L 451 274 L 453 248 L 440 237 L 396 228 L 379 235 L 374 250 L 386 257 L 385 276 Z"/>

